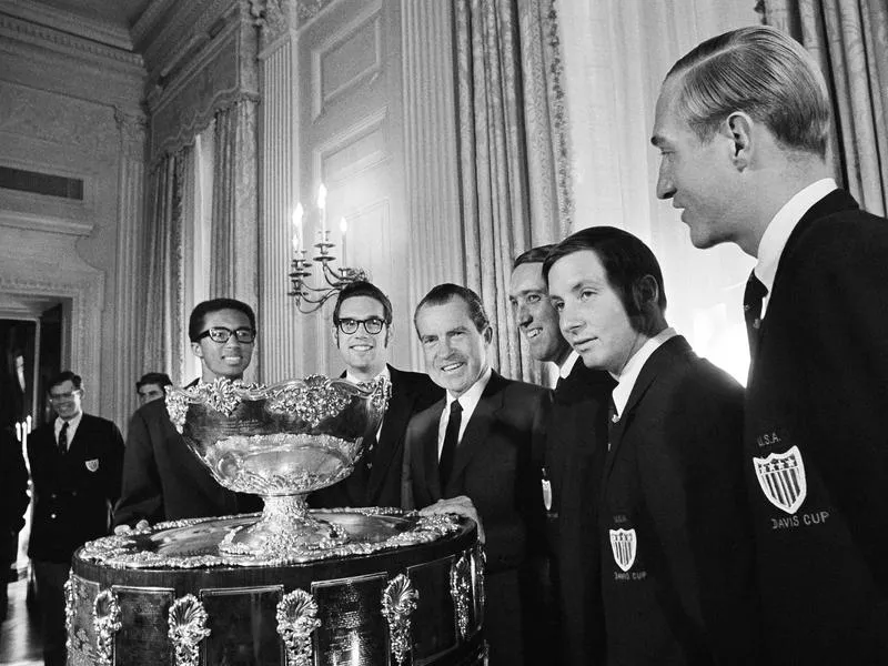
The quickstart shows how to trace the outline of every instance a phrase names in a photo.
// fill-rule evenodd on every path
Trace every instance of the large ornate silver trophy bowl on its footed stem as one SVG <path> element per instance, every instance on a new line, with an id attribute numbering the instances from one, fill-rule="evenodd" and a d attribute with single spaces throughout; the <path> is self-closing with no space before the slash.
<path id="1" fill-rule="evenodd" d="M 167 410 L 191 452 L 222 486 L 265 503 L 259 521 L 229 532 L 220 551 L 275 559 L 343 545 L 346 532 L 311 515 L 305 497 L 352 473 L 390 392 L 383 377 L 359 386 L 322 375 L 168 389 Z"/>

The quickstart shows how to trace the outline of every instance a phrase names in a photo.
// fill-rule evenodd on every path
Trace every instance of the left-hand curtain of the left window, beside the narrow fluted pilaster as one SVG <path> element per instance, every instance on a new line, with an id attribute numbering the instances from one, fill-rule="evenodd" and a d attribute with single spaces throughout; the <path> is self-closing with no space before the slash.
<path id="1" fill-rule="evenodd" d="M 145 371 L 167 372 L 173 384 L 184 376 L 188 317 L 184 311 L 182 251 L 183 196 L 186 174 L 194 169 L 193 147 L 164 155 L 150 176 L 145 226 L 148 281 L 145 285 Z"/>

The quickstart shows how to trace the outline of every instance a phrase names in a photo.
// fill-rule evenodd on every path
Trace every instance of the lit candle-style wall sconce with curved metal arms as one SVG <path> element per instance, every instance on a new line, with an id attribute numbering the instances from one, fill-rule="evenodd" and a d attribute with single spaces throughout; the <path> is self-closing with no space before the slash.
<path id="1" fill-rule="evenodd" d="M 330 241 L 330 230 L 326 228 L 326 188 L 323 183 L 317 189 L 317 242 L 314 248 L 314 256 L 309 259 L 302 233 L 302 219 L 304 216 L 302 204 L 296 204 L 293 212 L 293 260 L 290 262 L 290 285 L 287 295 L 296 300 L 296 307 L 303 314 L 314 312 L 326 303 L 327 299 L 337 294 L 342 287 L 352 282 L 366 280 L 367 274 L 362 269 L 352 269 L 345 265 L 345 232 L 347 225 L 345 218 L 340 221 L 342 232 L 342 261 L 339 269 L 330 264 L 336 260 L 333 254 L 336 244 Z M 314 276 L 315 266 L 320 266 L 320 283 L 317 286 L 310 284 L 309 280 Z"/>

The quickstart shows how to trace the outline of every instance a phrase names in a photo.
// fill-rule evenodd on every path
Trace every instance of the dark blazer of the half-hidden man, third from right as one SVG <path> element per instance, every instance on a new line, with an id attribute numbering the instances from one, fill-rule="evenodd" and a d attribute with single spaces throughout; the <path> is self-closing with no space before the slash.
<path id="1" fill-rule="evenodd" d="M 578 359 L 558 383 L 546 422 L 563 664 L 604 663 L 598 502 L 607 450 L 607 405 L 616 382 Z M 553 519 L 554 518 L 554 519 Z"/>

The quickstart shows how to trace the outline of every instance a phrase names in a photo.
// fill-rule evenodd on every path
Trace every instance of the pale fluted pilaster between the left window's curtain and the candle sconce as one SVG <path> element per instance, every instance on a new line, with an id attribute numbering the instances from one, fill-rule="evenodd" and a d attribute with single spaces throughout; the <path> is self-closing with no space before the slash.
<path id="1" fill-rule="evenodd" d="M 260 201 L 261 381 L 273 383 L 303 374 L 302 315 L 287 295 L 292 259 L 292 214 L 299 183 L 299 108 L 296 105 L 296 23 L 293 0 L 254 2 L 262 28 Z"/>

